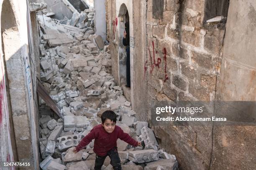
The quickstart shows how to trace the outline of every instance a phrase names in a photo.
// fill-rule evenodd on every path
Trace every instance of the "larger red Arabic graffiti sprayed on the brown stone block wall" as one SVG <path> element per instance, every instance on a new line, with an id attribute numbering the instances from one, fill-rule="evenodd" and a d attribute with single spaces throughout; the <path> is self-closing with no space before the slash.
<path id="1" fill-rule="evenodd" d="M 150 52 L 150 49 L 148 47 L 148 52 L 149 52 L 149 57 L 150 57 L 150 65 L 151 65 L 151 70 L 150 70 L 150 74 L 153 72 L 154 70 L 154 67 L 159 67 L 160 63 L 161 63 L 161 58 L 157 58 L 157 62 L 156 62 L 156 55 L 155 54 L 158 54 L 158 51 L 156 50 L 155 52 L 155 45 L 154 45 L 154 41 L 152 41 L 152 47 L 153 47 L 153 59 L 152 59 L 152 55 L 151 55 L 151 52 Z M 167 72 L 166 72 L 166 66 L 167 66 L 167 62 L 166 62 L 166 55 L 167 55 L 167 51 L 166 51 L 166 47 L 163 48 L 162 50 L 163 52 L 163 55 L 164 55 L 164 82 L 166 82 L 166 80 L 169 79 L 168 75 L 167 75 Z M 153 60 L 153 61 L 152 61 Z M 146 60 L 145 62 L 145 65 L 144 65 L 144 77 L 145 77 L 145 74 L 146 74 L 146 71 L 147 71 L 147 65 L 148 65 L 148 60 Z"/>

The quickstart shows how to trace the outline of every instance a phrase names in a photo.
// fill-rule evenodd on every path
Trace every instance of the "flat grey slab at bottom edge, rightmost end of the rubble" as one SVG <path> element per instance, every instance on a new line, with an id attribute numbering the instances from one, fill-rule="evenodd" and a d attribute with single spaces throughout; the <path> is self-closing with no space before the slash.
<path id="1" fill-rule="evenodd" d="M 158 166 L 161 166 L 164 170 L 178 170 L 178 162 L 177 160 L 157 160 L 151 163 L 147 163 L 144 170 L 156 170 Z"/>

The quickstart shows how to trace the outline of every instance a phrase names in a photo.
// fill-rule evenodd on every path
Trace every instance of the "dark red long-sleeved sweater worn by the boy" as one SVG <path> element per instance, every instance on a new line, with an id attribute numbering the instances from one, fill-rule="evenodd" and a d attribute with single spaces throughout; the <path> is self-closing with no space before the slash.
<path id="1" fill-rule="evenodd" d="M 99 156 L 105 156 L 109 150 L 117 146 L 116 141 L 118 138 L 130 145 L 138 146 L 138 142 L 127 133 L 124 133 L 119 126 L 115 125 L 115 130 L 112 133 L 107 133 L 102 124 L 100 124 L 95 126 L 90 133 L 81 140 L 76 149 L 77 151 L 82 150 L 82 148 L 86 147 L 95 139 L 93 151 Z"/>

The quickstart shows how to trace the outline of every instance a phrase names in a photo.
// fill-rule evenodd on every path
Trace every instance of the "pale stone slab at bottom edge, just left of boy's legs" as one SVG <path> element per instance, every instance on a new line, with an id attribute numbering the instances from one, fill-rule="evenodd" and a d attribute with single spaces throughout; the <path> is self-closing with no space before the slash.
<path id="1" fill-rule="evenodd" d="M 85 160 L 85 161 L 67 163 L 66 170 L 92 170 L 94 168 L 95 161 L 92 160 L 90 162 L 91 163 L 88 164 L 89 162 Z"/>

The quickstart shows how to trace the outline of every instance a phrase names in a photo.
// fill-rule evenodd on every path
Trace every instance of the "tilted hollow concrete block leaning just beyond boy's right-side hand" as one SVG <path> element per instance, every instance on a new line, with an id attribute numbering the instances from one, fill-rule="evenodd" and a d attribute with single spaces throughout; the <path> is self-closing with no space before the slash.
<path id="1" fill-rule="evenodd" d="M 144 141 L 145 145 L 153 143 L 153 145 L 159 146 L 156 141 L 154 132 L 150 128 L 148 128 L 146 126 L 141 128 L 141 136 L 142 136 L 142 140 Z"/>

